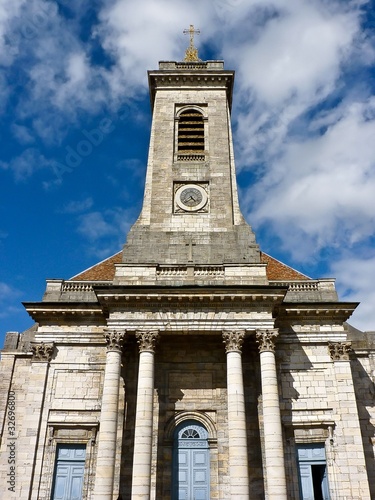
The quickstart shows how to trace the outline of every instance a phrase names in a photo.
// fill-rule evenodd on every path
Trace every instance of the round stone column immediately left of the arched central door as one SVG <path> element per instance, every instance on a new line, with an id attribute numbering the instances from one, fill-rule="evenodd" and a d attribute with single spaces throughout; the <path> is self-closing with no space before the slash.
<path id="1" fill-rule="evenodd" d="M 149 499 L 151 487 L 154 352 L 159 332 L 139 331 L 139 371 L 134 430 L 132 498 Z"/>

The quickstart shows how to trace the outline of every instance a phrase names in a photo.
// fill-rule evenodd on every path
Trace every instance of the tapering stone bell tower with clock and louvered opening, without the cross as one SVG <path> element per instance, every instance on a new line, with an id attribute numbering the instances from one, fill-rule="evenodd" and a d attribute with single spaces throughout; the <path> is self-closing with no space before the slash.
<path id="1" fill-rule="evenodd" d="M 222 61 L 161 62 L 148 76 L 153 119 L 144 202 L 118 282 L 129 267 L 137 274 L 136 266 L 145 263 L 159 281 L 166 266 L 199 268 L 194 280 L 187 270 L 175 273 L 189 282 L 207 266 L 217 267 L 222 282 L 240 267 L 250 281 L 259 279 L 251 271 L 260 263 L 259 249 L 238 205 L 230 124 L 234 72 Z M 144 282 L 144 270 L 141 276 Z"/>

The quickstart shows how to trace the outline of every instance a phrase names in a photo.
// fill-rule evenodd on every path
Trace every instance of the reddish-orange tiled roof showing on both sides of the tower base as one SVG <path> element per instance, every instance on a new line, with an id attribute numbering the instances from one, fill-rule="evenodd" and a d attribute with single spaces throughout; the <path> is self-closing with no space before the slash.
<path id="1" fill-rule="evenodd" d="M 73 276 L 72 281 L 112 281 L 115 277 L 115 264 L 121 263 L 122 252 L 112 255 L 108 259 L 86 269 L 80 274 Z M 283 264 L 270 255 L 261 252 L 261 262 L 267 264 L 267 277 L 270 281 L 295 281 L 309 280 L 308 276 L 299 273 L 292 267 Z"/>

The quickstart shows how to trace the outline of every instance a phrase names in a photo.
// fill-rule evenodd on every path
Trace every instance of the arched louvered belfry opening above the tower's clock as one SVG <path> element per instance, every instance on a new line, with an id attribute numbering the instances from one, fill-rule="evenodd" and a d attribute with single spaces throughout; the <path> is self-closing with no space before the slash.
<path id="1" fill-rule="evenodd" d="M 183 111 L 178 123 L 178 152 L 202 153 L 204 151 L 203 115 L 195 109 Z"/>

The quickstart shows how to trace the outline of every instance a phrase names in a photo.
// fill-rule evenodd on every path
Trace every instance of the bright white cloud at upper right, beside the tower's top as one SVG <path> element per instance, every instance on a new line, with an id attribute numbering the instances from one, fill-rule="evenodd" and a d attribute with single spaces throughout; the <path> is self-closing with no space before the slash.
<path id="1" fill-rule="evenodd" d="M 358 31 L 358 14 L 330 12 L 320 2 L 272 2 L 271 17 L 257 40 L 247 40 L 228 52 L 239 61 L 241 88 L 257 99 L 278 105 L 298 97 L 308 104 L 325 97 L 340 70 L 344 51 Z M 320 4 L 320 5 L 319 5 Z M 257 9 L 263 3 L 257 2 Z"/>

